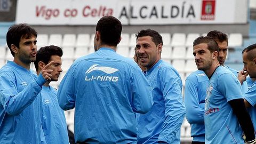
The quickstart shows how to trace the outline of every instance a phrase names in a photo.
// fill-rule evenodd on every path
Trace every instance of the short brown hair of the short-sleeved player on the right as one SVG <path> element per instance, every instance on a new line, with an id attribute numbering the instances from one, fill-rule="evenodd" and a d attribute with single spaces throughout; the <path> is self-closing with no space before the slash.
<path id="1" fill-rule="evenodd" d="M 212 52 L 219 52 L 219 46 L 217 42 L 214 41 L 212 37 L 209 36 L 200 36 L 197 37 L 193 43 L 193 46 L 196 46 L 198 44 L 206 43 L 207 44 L 207 49 L 212 53 Z"/>

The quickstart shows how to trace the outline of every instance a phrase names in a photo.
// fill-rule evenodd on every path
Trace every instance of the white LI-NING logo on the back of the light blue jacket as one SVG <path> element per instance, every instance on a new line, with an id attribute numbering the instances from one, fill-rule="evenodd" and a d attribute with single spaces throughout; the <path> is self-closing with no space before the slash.
<path id="1" fill-rule="evenodd" d="M 110 67 L 96 67 L 97 65 L 92 65 L 88 70 L 86 70 L 85 74 L 89 74 L 94 70 L 100 70 L 106 74 L 113 74 L 116 71 L 118 71 L 119 69 L 116 68 L 110 68 Z M 109 82 L 117 82 L 118 81 L 118 77 L 117 76 L 90 76 L 87 77 L 87 75 L 85 76 L 85 81 L 109 81 Z"/>

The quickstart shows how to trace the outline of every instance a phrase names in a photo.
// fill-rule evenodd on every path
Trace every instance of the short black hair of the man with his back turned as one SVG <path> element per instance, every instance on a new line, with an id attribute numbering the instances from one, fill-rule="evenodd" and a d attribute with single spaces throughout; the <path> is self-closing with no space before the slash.
<path id="1" fill-rule="evenodd" d="M 102 44 L 116 46 L 121 37 L 122 23 L 115 17 L 105 16 L 98 21 L 96 31 L 100 32 Z"/>

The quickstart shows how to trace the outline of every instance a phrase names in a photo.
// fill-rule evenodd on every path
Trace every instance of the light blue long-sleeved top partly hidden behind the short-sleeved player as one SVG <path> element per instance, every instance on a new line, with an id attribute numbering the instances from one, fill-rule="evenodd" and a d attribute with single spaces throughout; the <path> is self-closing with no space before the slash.
<path id="1" fill-rule="evenodd" d="M 209 78 L 202 70 L 197 70 L 186 78 L 184 102 L 193 141 L 205 141 L 204 101 L 208 82 Z"/>

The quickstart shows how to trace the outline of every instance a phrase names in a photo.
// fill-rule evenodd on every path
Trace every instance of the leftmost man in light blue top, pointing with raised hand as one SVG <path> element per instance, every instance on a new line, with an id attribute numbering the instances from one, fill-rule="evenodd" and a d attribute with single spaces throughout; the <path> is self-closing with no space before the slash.
<path id="1" fill-rule="evenodd" d="M 11 26 L 7 45 L 14 57 L 0 69 L 0 143 L 41 143 L 42 85 L 51 80 L 52 63 L 37 75 L 30 71 L 36 60 L 36 30 L 26 24 Z M 41 137 L 42 136 L 42 137 Z"/>

